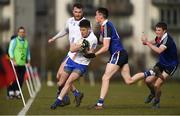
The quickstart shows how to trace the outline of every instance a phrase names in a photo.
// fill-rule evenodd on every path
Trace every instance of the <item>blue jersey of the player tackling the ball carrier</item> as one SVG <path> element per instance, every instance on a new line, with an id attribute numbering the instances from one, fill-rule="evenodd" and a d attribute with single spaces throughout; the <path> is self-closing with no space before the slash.
<path id="1" fill-rule="evenodd" d="M 124 47 L 121 43 L 121 38 L 119 37 L 116 28 L 108 20 L 105 20 L 101 25 L 100 40 L 102 40 L 102 38 L 111 39 L 109 46 L 109 52 L 111 55 L 117 51 L 124 50 Z"/>

